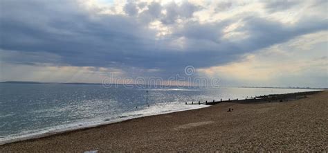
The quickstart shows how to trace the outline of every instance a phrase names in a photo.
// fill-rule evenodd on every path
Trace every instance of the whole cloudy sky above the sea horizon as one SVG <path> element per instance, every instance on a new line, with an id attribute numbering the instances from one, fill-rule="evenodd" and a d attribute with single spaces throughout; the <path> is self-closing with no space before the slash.
<path id="1" fill-rule="evenodd" d="M 327 3 L 1 0 L 0 81 L 328 87 Z"/>

